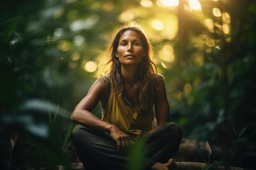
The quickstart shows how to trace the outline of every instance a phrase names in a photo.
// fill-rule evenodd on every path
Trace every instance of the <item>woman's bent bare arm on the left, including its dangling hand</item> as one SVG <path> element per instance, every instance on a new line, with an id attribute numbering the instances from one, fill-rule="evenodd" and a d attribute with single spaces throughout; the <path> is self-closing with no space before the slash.
<path id="1" fill-rule="evenodd" d="M 103 83 L 103 80 L 98 79 L 90 88 L 88 95 L 86 95 L 86 97 L 76 106 L 70 120 L 74 121 L 76 124 L 83 124 L 94 130 L 108 132 L 110 137 L 117 142 L 119 153 L 125 155 L 130 146 L 128 135 L 122 132 L 117 126 L 109 124 L 91 113 L 101 99 L 105 97 L 107 100 L 107 96 L 108 84 Z"/>

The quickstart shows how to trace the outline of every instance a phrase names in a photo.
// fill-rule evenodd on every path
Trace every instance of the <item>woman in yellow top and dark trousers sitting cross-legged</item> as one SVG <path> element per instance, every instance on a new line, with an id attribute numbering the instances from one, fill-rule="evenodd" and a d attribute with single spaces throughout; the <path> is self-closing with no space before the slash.
<path id="1" fill-rule="evenodd" d="M 139 26 L 126 25 L 115 35 L 98 67 L 97 81 L 70 118 L 78 124 L 72 141 L 86 170 L 125 170 L 138 139 L 145 148 L 142 169 L 175 168 L 171 158 L 182 131 L 170 122 L 164 78 L 157 74 L 152 55 Z M 91 113 L 99 102 L 102 119 Z"/>

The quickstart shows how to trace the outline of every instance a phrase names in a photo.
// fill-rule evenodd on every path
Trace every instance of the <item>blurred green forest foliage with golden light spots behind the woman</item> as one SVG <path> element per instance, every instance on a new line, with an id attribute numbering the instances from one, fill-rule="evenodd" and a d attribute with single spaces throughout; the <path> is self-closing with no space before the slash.
<path id="1" fill-rule="evenodd" d="M 255 0 L 1 0 L 0 169 L 77 161 L 69 117 L 130 20 L 153 44 L 184 137 L 256 168 L 255 15 Z"/>

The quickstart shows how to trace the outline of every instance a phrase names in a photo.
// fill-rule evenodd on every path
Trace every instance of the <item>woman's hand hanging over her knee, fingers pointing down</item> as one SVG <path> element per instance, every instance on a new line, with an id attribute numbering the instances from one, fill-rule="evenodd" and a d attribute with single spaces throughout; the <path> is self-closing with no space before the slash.
<path id="1" fill-rule="evenodd" d="M 131 145 L 129 136 L 115 125 L 110 126 L 108 134 L 117 142 L 117 150 L 119 154 L 125 156 L 128 155 Z"/>

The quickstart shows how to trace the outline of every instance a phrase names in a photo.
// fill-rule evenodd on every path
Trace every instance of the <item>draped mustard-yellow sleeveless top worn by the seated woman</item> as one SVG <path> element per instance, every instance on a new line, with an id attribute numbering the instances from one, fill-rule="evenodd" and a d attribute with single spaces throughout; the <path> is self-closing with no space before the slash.
<path id="1" fill-rule="evenodd" d="M 152 129 L 154 119 L 153 106 L 149 114 L 137 113 L 136 106 L 130 104 L 123 96 L 118 97 L 113 91 L 112 84 L 109 84 L 109 97 L 102 120 L 114 124 L 124 133 L 129 135 L 132 143 L 136 142 Z"/>

